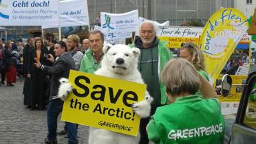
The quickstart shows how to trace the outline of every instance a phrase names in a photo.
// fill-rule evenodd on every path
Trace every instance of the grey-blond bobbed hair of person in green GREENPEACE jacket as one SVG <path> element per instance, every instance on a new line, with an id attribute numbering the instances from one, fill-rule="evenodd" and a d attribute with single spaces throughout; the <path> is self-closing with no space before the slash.
<path id="1" fill-rule="evenodd" d="M 201 86 L 198 71 L 193 64 L 183 58 L 167 62 L 162 70 L 161 81 L 169 95 L 195 95 Z"/>

